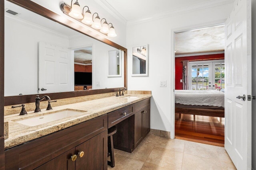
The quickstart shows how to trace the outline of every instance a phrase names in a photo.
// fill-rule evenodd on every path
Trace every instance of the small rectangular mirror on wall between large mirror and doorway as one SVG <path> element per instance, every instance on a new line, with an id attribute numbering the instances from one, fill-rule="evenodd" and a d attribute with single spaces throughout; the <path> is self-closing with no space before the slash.
<path id="1" fill-rule="evenodd" d="M 148 45 L 132 48 L 132 76 L 148 75 Z"/>

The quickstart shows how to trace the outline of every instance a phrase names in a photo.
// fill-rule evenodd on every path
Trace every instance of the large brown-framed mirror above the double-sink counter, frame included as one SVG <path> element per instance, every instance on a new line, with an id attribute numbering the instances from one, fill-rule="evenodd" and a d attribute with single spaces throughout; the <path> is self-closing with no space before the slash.
<path id="1" fill-rule="evenodd" d="M 60 16 L 32 1 L 5 0 L 4 2 L 6 8 L 20 12 L 18 16 L 8 16 L 8 14 L 5 14 L 4 30 L 2 29 L 5 31 L 5 39 L 2 39 L 2 42 L 5 43 L 5 69 L 17 68 L 5 70 L 5 106 L 34 102 L 34 96 L 41 93 L 41 91 L 51 96 L 52 99 L 61 99 L 115 92 L 119 88 L 126 88 L 126 48 L 100 35 L 96 35 L 92 31 L 86 30 L 84 26 L 77 24 L 75 21 L 68 20 L 66 17 Z M 46 25 L 42 25 L 44 23 Z M 16 29 L 17 27 L 14 26 L 10 27 L 14 24 L 19 25 L 17 26 L 19 29 Z M 12 35 L 15 35 L 15 37 Z M 18 45 L 14 45 L 13 42 L 18 43 Z M 56 90 L 50 91 L 48 88 L 44 88 L 44 86 L 38 87 L 39 42 L 46 42 L 47 48 L 44 48 L 44 51 L 47 51 L 48 55 L 52 55 L 54 51 L 58 50 L 62 58 L 66 58 L 67 55 L 64 55 L 63 52 L 65 51 L 63 49 L 71 50 L 70 56 L 73 59 L 73 63 L 67 71 L 72 75 L 72 78 L 62 77 L 66 74 L 56 76 L 59 79 L 66 80 L 66 82 L 72 82 L 68 90 L 62 90 L 58 87 Z M 88 47 L 86 45 L 88 44 L 93 45 L 93 59 L 91 61 L 90 59 L 84 59 L 82 62 L 92 63 L 84 64 L 91 66 L 90 71 L 76 71 L 74 69 L 74 55 L 76 55 L 76 52 L 85 53 L 84 51 L 90 51 L 90 49 L 86 49 Z M 83 48 L 83 50 L 79 51 L 79 48 Z M 120 61 L 122 66 L 119 66 L 120 77 L 111 78 L 111 81 L 108 81 L 108 64 L 106 64 L 108 62 L 108 51 L 115 50 L 121 51 L 122 55 L 122 61 Z M 22 69 L 18 69 L 19 65 L 22 66 Z M 68 64 L 66 65 L 68 66 Z M 62 68 L 66 68 L 64 64 L 61 66 Z M 15 70 L 19 70 L 19 72 L 15 72 Z M 53 74 L 49 69 L 46 72 Z M 90 76 L 92 77 L 92 82 L 75 83 L 75 72 L 89 72 L 92 74 Z M 20 74 L 22 76 L 13 76 Z M 51 79 L 56 77 L 52 76 Z M 50 76 L 46 78 L 50 78 Z M 15 86 L 18 82 L 22 82 L 22 84 Z M 63 82 L 60 84 L 63 84 Z M 76 84 L 86 85 L 88 88 L 75 91 Z M 44 88 L 44 90 L 41 90 L 41 88 Z"/>

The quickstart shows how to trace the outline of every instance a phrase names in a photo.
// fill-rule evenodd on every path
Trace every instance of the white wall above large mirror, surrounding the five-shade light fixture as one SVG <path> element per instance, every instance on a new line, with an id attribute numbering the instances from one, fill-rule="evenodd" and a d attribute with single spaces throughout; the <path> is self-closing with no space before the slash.
<path id="1" fill-rule="evenodd" d="M 71 0 L 31 0 L 31 1 L 36 2 L 37 4 L 55 12 L 56 14 L 64 16 L 69 20 L 72 20 L 78 24 L 82 24 L 70 18 L 66 14 L 63 14 L 63 12 L 60 10 L 60 4 L 65 2 L 66 4 L 70 5 Z M 126 24 L 125 23 L 114 18 L 109 12 L 107 12 L 104 8 L 102 8 L 102 6 L 100 6 L 95 0 L 84 0 L 84 1 L 79 0 L 78 2 L 81 8 L 83 8 L 84 6 L 88 6 L 92 14 L 94 14 L 94 12 L 97 12 L 99 14 L 100 19 L 106 18 L 108 23 L 112 23 L 115 28 L 117 36 L 107 37 L 106 35 L 103 35 L 102 33 L 99 33 L 98 31 L 95 31 L 94 29 L 82 24 L 84 27 L 88 28 L 89 30 L 93 31 L 96 34 L 102 35 L 102 37 L 110 39 L 111 41 L 125 47 L 126 45 Z M 73 3 L 74 3 L 74 0 L 73 0 Z"/>

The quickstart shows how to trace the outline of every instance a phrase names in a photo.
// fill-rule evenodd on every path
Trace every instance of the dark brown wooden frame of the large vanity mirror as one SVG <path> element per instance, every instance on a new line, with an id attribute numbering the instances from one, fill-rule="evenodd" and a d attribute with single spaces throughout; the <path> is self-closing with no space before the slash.
<path id="1" fill-rule="evenodd" d="M 21 6 L 22 8 L 30 10 L 36 14 L 39 14 L 45 18 L 48 18 L 52 21 L 60 23 L 66 27 L 74 29 L 75 31 L 78 31 L 84 35 L 87 35 L 91 38 L 101 41 L 102 43 L 105 43 L 107 45 L 115 47 L 116 49 L 124 51 L 124 87 L 98 89 L 98 90 L 81 90 L 81 91 L 72 91 L 72 92 L 56 92 L 56 93 L 47 93 L 44 95 L 48 95 L 48 96 L 50 96 L 50 98 L 52 100 L 56 100 L 56 99 L 62 99 L 62 98 L 72 98 L 72 97 L 78 97 L 78 96 L 87 96 L 87 95 L 93 95 L 93 94 L 116 92 L 119 90 L 119 88 L 127 89 L 127 76 L 126 76 L 127 75 L 127 49 L 126 48 L 110 41 L 109 39 L 104 38 L 101 35 L 95 35 L 94 32 L 84 29 L 83 26 L 78 25 L 75 22 L 70 21 L 67 18 L 60 16 L 59 14 L 56 14 L 56 13 L 52 12 L 51 10 L 48 10 L 47 8 L 44 8 L 43 6 L 40 6 L 39 4 L 36 4 L 35 2 L 32 2 L 30 0 L 8 0 L 8 1 L 12 2 L 18 6 Z M 2 6 L 2 8 L 4 8 L 4 0 L 1 0 L 1 2 L 0 2 L 0 6 Z M 1 11 L 0 18 L 1 18 L 0 21 L 4 21 L 4 10 Z M 72 25 L 76 25 L 76 28 L 72 27 Z M 2 98 L 2 96 L 4 96 L 4 24 L 0 25 L 0 38 L 2 40 L 0 43 L 1 44 L 0 45 L 0 51 L 1 51 L 1 54 L 0 54 L 1 55 L 0 56 L 0 69 L 1 69 L 0 70 L 0 72 L 1 72 L 0 80 L 2 82 L 2 83 L 0 83 L 0 89 L 1 89 L 1 98 Z M 1 99 L 0 106 L 2 106 L 2 102 L 4 102 L 4 106 L 32 103 L 35 101 L 36 95 L 37 94 L 23 95 L 23 96 L 6 96 L 6 97 L 4 97 L 4 100 L 2 100 L 0 98 Z"/>

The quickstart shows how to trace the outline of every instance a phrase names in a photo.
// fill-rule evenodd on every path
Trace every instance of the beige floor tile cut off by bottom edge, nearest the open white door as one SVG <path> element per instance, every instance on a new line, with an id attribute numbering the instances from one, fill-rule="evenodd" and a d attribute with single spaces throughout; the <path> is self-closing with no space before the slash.
<path id="1" fill-rule="evenodd" d="M 184 153 L 182 170 L 222 170 L 222 166 L 218 160 Z"/>

